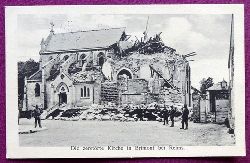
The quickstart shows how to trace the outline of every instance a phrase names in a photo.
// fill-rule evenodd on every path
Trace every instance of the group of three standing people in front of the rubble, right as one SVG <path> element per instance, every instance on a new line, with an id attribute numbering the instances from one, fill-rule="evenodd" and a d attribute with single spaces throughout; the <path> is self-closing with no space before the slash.
<path id="1" fill-rule="evenodd" d="M 168 110 L 166 108 L 166 106 L 164 106 L 164 109 L 163 109 L 163 113 L 162 113 L 162 116 L 163 116 L 163 125 L 166 125 L 168 124 L 168 118 L 170 117 L 170 121 L 171 121 L 171 125 L 170 127 L 174 127 L 174 117 L 176 116 L 176 108 L 174 108 L 173 106 L 171 106 L 171 109 Z M 184 130 L 187 130 L 188 129 L 188 115 L 189 115 L 189 110 L 187 108 L 187 105 L 184 104 L 184 107 L 183 107 L 183 111 L 182 111 L 182 115 L 181 115 L 181 123 L 182 123 L 182 127 L 180 129 L 184 129 Z M 185 126 L 185 128 L 184 128 Z"/>

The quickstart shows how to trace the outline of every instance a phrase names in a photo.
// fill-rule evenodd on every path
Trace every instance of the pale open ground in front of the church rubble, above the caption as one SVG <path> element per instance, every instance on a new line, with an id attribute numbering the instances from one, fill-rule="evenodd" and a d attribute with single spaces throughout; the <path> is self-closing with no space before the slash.
<path id="1" fill-rule="evenodd" d="M 21 120 L 20 127 L 33 127 L 33 120 Z M 21 146 L 108 146 L 108 145 L 234 145 L 224 125 L 189 123 L 188 130 L 164 126 L 161 122 L 44 120 L 47 130 L 20 134 Z"/>

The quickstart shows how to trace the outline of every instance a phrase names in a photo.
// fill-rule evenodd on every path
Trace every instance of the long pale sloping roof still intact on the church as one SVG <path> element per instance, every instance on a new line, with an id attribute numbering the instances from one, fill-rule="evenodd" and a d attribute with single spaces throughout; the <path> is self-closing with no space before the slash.
<path id="1" fill-rule="evenodd" d="M 125 28 L 109 28 L 58 34 L 51 33 L 44 42 L 45 47 L 42 52 L 107 48 L 118 42 L 124 31 Z"/>

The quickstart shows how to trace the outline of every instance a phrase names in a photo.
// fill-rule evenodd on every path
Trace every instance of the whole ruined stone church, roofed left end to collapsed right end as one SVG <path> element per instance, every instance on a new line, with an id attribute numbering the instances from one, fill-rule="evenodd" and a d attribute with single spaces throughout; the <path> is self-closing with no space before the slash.
<path id="1" fill-rule="evenodd" d="M 191 106 L 189 63 L 160 34 L 130 41 L 125 28 L 68 33 L 52 28 L 41 41 L 39 70 L 25 78 L 23 110 L 108 103 Z"/>

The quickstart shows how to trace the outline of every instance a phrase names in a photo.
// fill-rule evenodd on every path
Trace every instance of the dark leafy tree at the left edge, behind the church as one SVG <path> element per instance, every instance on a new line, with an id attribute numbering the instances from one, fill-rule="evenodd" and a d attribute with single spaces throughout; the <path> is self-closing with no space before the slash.
<path id="1" fill-rule="evenodd" d="M 24 94 L 24 78 L 30 77 L 39 70 L 39 63 L 33 59 L 26 62 L 18 62 L 18 104 L 22 105 Z"/>

